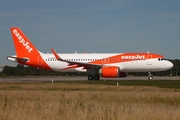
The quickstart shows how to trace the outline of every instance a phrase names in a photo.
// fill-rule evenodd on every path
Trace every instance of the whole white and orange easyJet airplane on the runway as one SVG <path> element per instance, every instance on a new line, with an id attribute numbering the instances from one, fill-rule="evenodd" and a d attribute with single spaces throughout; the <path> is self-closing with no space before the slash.
<path id="1" fill-rule="evenodd" d="M 151 72 L 171 69 L 173 64 L 162 55 L 150 52 L 137 53 L 73 53 L 40 52 L 18 27 L 10 28 L 16 55 L 7 60 L 40 69 L 59 72 L 87 72 L 88 80 L 126 77 L 128 72 Z"/>

